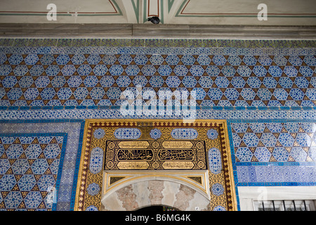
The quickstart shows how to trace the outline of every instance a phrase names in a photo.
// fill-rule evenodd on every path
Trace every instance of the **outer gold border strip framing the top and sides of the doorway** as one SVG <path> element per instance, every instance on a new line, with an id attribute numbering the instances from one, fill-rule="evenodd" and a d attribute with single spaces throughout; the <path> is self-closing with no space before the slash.
<path id="1" fill-rule="evenodd" d="M 195 120 L 195 122 L 184 123 L 183 120 L 150 120 L 150 119 L 89 119 L 86 120 L 85 129 L 84 129 L 84 139 L 81 150 L 81 161 L 78 174 L 78 184 L 77 184 L 77 193 L 75 199 L 74 210 L 83 210 L 84 207 L 84 191 L 86 189 L 86 169 L 88 167 L 88 147 L 90 146 L 91 141 L 91 131 L 89 132 L 88 128 L 93 123 L 99 123 L 100 126 L 104 125 L 105 127 L 110 126 L 111 123 L 114 123 L 114 126 L 135 126 L 136 124 L 157 124 L 161 127 L 172 126 L 172 125 L 182 125 L 183 127 L 210 127 L 210 124 L 222 124 L 223 127 L 220 129 L 220 148 L 222 153 L 222 165 L 223 165 L 223 176 L 225 181 L 225 192 L 226 192 L 226 201 L 227 201 L 227 210 L 235 211 L 237 210 L 237 200 L 235 193 L 235 182 L 232 172 L 232 160 L 230 154 L 230 141 L 228 139 L 228 126 L 226 120 Z M 210 124 L 207 124 L 210 123 Z M 111 127 L 111 126 L 110 126 Z"/>

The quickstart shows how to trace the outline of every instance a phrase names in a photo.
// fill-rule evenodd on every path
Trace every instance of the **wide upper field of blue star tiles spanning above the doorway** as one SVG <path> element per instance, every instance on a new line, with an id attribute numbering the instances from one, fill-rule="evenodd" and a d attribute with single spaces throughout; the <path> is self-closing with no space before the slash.
<path id="1" fill-rule="evenodd" d="M 315 106 L 315 62 L 303 54 L 6 53 L 0 105 L 115 105 L 140 85 L 195 89 L 204 106 Z"/>

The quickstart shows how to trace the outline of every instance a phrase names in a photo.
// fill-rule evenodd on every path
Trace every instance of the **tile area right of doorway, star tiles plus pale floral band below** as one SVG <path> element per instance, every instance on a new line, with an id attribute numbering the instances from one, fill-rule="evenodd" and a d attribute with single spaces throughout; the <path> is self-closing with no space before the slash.
<path id="1" fill-rule="evenodd" d="M 229 122 L 237 186 L 315 186 L 315 120 Z"/>

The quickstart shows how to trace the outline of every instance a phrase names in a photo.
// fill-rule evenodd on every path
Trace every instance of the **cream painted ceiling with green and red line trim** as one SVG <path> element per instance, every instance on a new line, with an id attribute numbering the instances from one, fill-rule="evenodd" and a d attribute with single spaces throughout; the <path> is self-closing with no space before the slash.
<path id="1" fill-rule="evenodd" d="M 51 8 L 56 20 L 48 20 Z M 258 20 L 265 4 L 268 20 Z M 0 23 L 316 25 L 315 0 L 1 0 Z"/>

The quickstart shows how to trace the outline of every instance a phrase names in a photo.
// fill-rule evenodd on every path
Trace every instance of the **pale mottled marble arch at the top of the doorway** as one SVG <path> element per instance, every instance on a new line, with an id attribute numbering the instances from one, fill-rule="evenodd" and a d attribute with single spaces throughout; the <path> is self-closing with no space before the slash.
<path id="1" fill-rule="evenodd" d="M 167 205 L 181 211 L 210 210 L 209 193 L 185 179 L 164 176 L 122 179 L 121 184 L 103 195 L 101 203 L 101 210 L 110 211 L 133 211 L 152 205 Z"/>

